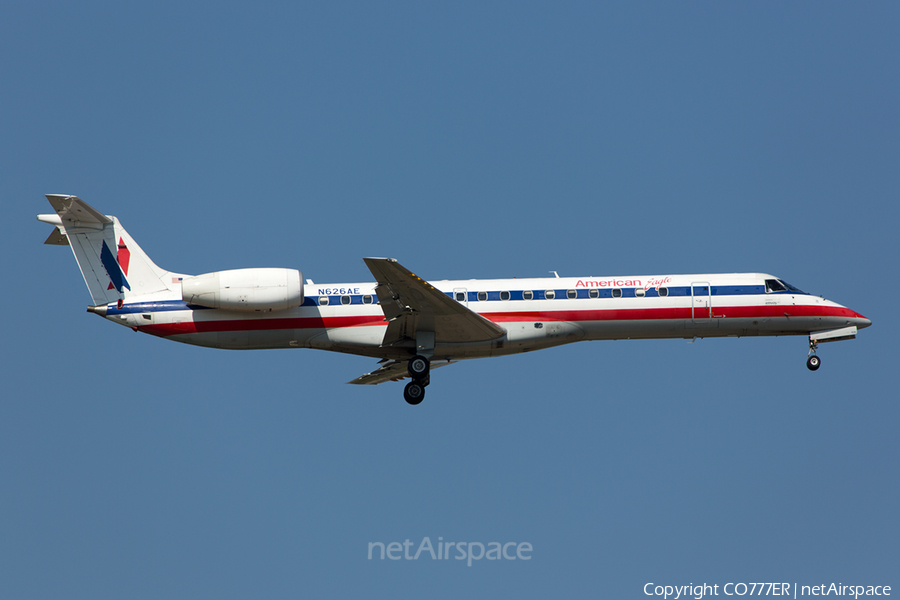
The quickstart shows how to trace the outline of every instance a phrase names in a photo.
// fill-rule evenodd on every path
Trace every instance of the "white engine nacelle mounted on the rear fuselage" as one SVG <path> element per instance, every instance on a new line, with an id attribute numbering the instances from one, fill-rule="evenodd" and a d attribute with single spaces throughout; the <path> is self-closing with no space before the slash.
<path id="1" fill-rule="evenodd" d="M 303 304 L 303 274 L 296 269 L 233 269 L 185 277 L 181 298 L 224 310 L 287 310 Z"/>

